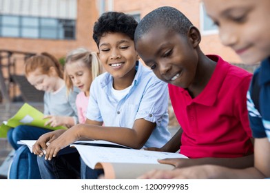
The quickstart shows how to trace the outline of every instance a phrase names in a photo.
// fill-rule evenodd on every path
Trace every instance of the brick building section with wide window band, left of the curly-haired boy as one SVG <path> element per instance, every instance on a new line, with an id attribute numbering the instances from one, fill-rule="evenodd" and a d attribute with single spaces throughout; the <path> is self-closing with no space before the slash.
<path id="1" fill-rule="evenodd" d="M 97 17 L 94 0 L 0 0 L 0 50 L 50 52 L 63 57 L 79 46 L 91 49 L 92 25 Z M 67 23 L 71 31 L 64 29 L 64 37 L 54 37 L 54 24 L 64 26 L 65 21 L 73 22 L 71 27 Z M 31 25 L 35 22 L 37 25 Z M 19 32 L 10 32 L 12 28 Z"/>

